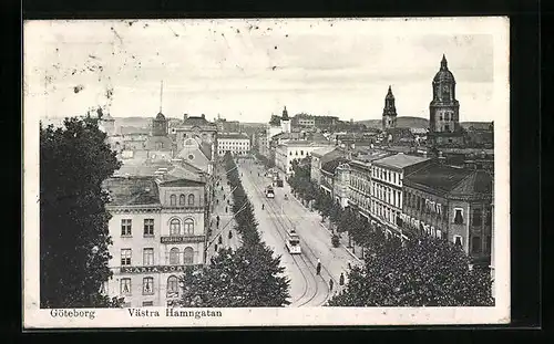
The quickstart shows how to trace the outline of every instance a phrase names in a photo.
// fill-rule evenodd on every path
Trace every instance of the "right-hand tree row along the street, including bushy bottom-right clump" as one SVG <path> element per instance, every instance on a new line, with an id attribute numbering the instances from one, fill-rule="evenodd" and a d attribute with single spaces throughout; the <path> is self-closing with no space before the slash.
<path id="1" fill-rule="evenodd" d="M 343 209 L 310 181 L 309 158 L 293 163 L 294 194 L 311 202 L 331 230 L 348 232 L 365 250 L 365 264 L 348 272 L 346 288 L 330 306 L 488 306 L 494 304 L 486 270 L 452 242 L 430 237 L 401 241 L 358 211 Z"/>

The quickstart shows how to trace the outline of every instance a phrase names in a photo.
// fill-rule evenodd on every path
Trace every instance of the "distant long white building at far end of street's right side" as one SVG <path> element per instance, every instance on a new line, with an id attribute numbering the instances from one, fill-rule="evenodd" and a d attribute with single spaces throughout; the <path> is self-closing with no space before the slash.
<path id="1" fill-rule="evenodd" d="M 309 156 L 314 150 L 329 147 L 327 142 L 289 140 L 281 143 L 275 149 L 275 165 L 285 174 L 293 173 L 293 160 Z"/>

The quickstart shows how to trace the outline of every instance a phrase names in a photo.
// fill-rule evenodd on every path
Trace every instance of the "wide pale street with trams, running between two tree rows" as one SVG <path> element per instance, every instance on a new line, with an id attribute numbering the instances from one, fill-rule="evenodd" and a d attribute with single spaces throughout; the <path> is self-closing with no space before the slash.
<path id="1" fill-rule="evenodd" d="M 290 306 L 322 305 L 340 290 L 340 273 L 343 272 L 346 279 L 348 262 L 353 264 L 356 259 L 342 246 L 332 248 L 331 233 L 321 226 L 321 217 L 290 196 L 290 187 L 286 183 L 283 188 L 275 188 L 274 199 L 268 199 L 264 190 L 271 181 L 264 176 L 261 165 L 244 160 L 239 163 L 239 171 L 243 186 L 255 205 L 261 239 L 275 254 L 281 256 L 281 263 L 290 279 Z M 265 210 L 261 205 L 265 205 Z M 293 228 L 300 236 L 301 254 L 289 254 L 285 247 L 287 233 Z M 318 259 L 321 262 L 320 275 L 316 274 Z M 331 279 L 334 289 L 329 291 Z"/>

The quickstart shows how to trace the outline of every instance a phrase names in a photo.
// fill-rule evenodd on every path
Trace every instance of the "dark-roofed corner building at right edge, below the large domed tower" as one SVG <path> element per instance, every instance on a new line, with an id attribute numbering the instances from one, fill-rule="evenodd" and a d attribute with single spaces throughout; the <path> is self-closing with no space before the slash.
<path id="1" fill-rule="evenodd" d="M 432 164 L 404 178 L 402 223 L 412 236 L 460 246 L 474 263 L 488 265 L 492 251 L 492 175 Z"/>

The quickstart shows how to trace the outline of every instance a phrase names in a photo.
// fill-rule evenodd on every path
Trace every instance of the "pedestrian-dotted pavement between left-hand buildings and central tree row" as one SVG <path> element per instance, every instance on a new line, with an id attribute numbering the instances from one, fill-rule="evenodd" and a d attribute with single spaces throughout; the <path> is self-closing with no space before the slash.
<path id="1" fill-rule="evenodd" d="M 209 259 L 214 257 L 216 246 L 217 250 L 220 248 L 236 250 L 240 246 L 239 234 L 235 230 L 236 222 L 233 219 L 233 195 L 230 194 L 230 187 L 227 185 L 227 176 L 223 166 L 216 167 L 216 176 L 220 179 L 218 185 L 216 183 L 215 186 L 214 211 L 211 216 L 212 233 L 207 240 L 206 263 L 209 263 Z M 225 208 L 227 208 L 227 212 L 225 212 Z M 217 227 L 217 216 L 219 216 L 219 227 Z M 230 239 L 229 231 L 233 232 Z"/>

